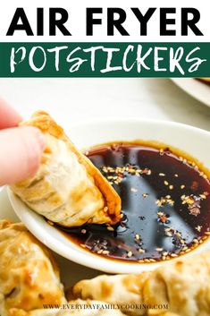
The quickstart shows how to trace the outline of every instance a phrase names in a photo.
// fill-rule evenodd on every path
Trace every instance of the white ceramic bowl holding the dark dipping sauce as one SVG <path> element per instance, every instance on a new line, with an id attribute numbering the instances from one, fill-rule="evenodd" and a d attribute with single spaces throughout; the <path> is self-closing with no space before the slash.
<path id="1" fill-rule="evenodd" d="M 108 141 L 161 141 L 188 152 L 210 169 L 210 132 L 192 126 L 172 122 L 114 119 L 73 124 L 67 131 L 78 148 L 84 149 Z M 155 269 L 160 263 L 129 263 L 122 260 L 108 260 L 83 250 L 71 243 L 54 226 L 49 226 L 44 218 L 29 209 L 13 192 L 8 190 L 13 209 L 29 231 L 53 251 L 63 257 L 93 269 L 109 273 L 140 273 Z M 210 249 L 210 241 L 198 246 L 185 256 Z M 162 262 L 161 264 L 168 264 Z"/>

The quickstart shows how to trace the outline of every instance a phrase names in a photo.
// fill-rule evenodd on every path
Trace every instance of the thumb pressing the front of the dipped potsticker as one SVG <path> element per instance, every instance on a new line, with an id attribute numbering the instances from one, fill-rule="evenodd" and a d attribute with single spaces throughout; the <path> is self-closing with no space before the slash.
<path id="1" fill-rule="evenodd" d="M 15 184 L 34 175 L 45 147 L 43 134 L 24 126 L 0 132 L 0 185 Z"/>

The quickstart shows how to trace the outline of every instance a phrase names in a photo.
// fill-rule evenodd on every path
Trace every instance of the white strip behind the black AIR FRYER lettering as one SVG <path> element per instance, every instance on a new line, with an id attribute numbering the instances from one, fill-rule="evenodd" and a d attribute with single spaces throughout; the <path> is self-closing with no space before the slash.
<path id="1" fill-rule="evenodd" d="M 178 1 L 168 1 L 168 0 L 130 0 L 127 4 L 123 4 L 122 0 L 8 0 L 2 1 L 0 4 L 0 41 L 210 41 L 210 23 L 209 23 L 209 1 L 208 0 L 178 0 Z M 96 15 L 96 18 L 103 18 L 103 24 L 94 27 L 94 36 L 86 37 L 86 7 L 103 7 L 103 14 Z M 9 25 L 13 19 L 13 14 L 17 7 L 23 7 L 29 19 L 31 28 L 36 32 L 36 12 L 37 7 L 45 8 L 45 36 L 44 37 L 27 37 L 24 31 L 16 31 L 13 37 L 5 37 L 5 34 L 9 28 Z M 66 22 L 66 27 L 70 30 L 72 36 L 64 37 L 59 32 L 55 37 L 49 37 L 48 34 L 48 9 L 49 7 L 63 7 L 69 13 L 69 21 Z M 107 18 L 106 18 L 106 8 L 107 7 L 121 7 L 127 13 L 127 20 L 124 22 L 123 26 L 130 33 L 130 37 L 121 36 L 117 31 L 114 37 L 106 36 L 107 29 Z M 149 7 L 156 7 L 156 11 L 152 16 L 151 20 L 148 21 L 148 35 L 147 37 L 139 36 L 139 21 L 135 15 L 130 11 L 130 7 L 138 7 L 144 14 L 147 12 Z M 176 19 L 175 30 L 177 30 L 177 36 L 174 37 L 160 37 L 159 36 L 159 8 L 160 7 L 176 7 L 175 14 L 169 14 L 168 18 Z M 201 19 L 197 24 L 197 27 L 204 33 L 205 36 L 195 36 L 191 31 L 189 31 L 188 37 L 181 37 L 181 7 L 195 7 L 199 10 L 201 14 Z M 174 28 L 174 26 L 169 26 Z"/>

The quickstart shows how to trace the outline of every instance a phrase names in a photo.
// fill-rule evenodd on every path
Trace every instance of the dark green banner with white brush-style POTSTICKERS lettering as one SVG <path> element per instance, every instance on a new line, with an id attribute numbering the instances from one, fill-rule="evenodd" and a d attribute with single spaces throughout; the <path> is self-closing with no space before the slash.
<path id="1" fill-rule="evenodd" d="M 0 77 L 210 77 L 210 43 L 0 43 Z"/>

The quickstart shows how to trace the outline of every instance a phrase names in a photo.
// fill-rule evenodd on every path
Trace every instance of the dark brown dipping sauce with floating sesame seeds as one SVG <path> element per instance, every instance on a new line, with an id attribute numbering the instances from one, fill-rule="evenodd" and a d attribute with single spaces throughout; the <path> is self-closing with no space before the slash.
<path id="1" fill-rule="evenodd" d="M 114 260 L 155 262 L 190 252 L 210 235 L 210 183 L 195 162 L 135 143 L 87 156 L 119 193 L 123 217 L 116 226 L 63 228 L 71 241 Z"/>

